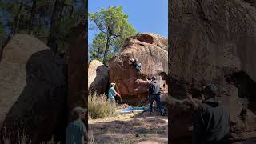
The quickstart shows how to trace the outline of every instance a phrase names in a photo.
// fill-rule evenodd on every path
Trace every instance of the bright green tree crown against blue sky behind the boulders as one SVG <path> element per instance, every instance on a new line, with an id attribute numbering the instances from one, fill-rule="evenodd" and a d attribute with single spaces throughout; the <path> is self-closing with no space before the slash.
<path id="1" fill-rule="evenodd" d="M 94 57 L 95 50 L 102 50 L 102 43 L 105 43 L 103 50 L 103 62 L 107 62 L 116 52 L 119 52 L 125 42 L 125 39 L 134 35 L 136 30 L 128 22 L 128 15 L 123 14 L 121 6 L 110 6 L 107 10 L 102 8 L 96 13 L 89 14 L 90 21 L 93 25 L 90 27 L 92 30 L 100 30 L 100 37 L 98 34 L 95 36 L 94 40 L 97 40 L 99 44 L 95 44 L 95 41 L 90 46 L 91 58 Z M 103 36 L 104 38 L 103 39 Z M 109 40 L 109 42 L 108 42 Z M 98 46 L 98 47 L 97 47 Z M 102 53 L 102 51 L 99 51 Z M 104 55 L 104 53 L 106 54 Z"/>

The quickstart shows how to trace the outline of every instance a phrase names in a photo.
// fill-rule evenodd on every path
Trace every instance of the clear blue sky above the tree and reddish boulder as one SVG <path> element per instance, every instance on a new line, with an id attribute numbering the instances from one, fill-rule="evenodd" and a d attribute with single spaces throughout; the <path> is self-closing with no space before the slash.
<path id="1" fill-rule="evenodd" d="M 128 22 L 137 32 L 151 32 L 168 38 L 167 0 L 89 0 L 88 12 L 94 13 L 109 6 L 122 6 L 123 12 L 128 14 Z M 88 30 L 89 44 L 96 33 L 95 30 Z"/>

